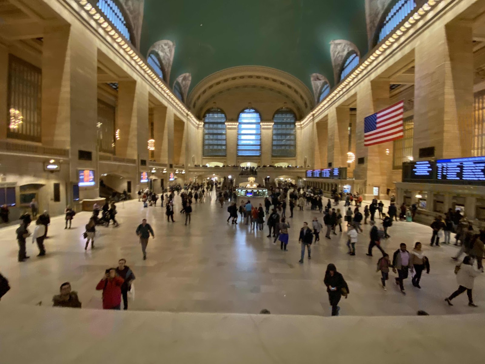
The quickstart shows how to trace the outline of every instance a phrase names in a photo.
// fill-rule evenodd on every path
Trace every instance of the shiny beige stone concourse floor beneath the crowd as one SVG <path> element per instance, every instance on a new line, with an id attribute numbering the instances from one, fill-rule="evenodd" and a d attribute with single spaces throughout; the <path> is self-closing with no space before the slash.
<path id="1" fill-rule="evenodd" d="M 221 208 L 216 202 L 212 197 L 194 204 L 189 226 L 184 226 L 183 216 L 178 213 L 178 197 L 175 223 L 167 223 L 165 209 L 160 206 L 144 209 L 138 201 L 119 203 L 120 227 L 99 227 L 96 248 L 86 252 L 81 235 L 90 214 L 77 214 L 71 230 L 64 229 L 62 216 L 55 217 L 49 227 L 51 238 L 46 240 L 48 255 L 37 258 L 37 248 L 29 239 L 31 258 L 25 263 L 16 261 L 16 227 L 0 229 L 0 271 L 12 286 L 2 303 L 50 305 L 59 285 L 70 281 L 79 292 L 82 307 L 100 308 L 101 294 L 95 286 L 106 268 L 125 258 L 137 277 L 130 310 L 259 313 L 266 308 L 272 314 L 330 315 L 323 275 L 326 265 L 334 263 L 350 288 L 349 298 L 340 303 L 342 315 L 412 315 L 418 310 L 429 314 L 485 312 L 482 276 L 476 279 L 473 290 L 478 308 L 467 306 L 465 294 L 453 301 L 453 307 L 443 302 L 457 288 L 454 262 L 450 259 L 456 247 L 431 248 L 431 229 L 427 226 L 394 222 L 389 229 L 391 238 L 383 243 L 390 255 L 402 242 L 408 247 L 416 241 L 425 243 L 431 272 L 423 274 L 421 290 L 413 287 L 410 279 L 405 281 L 407 295 L 403 296 L 393 284 L 392 273 L 388 291 L 382 290 L 380 274 L 375 271 L 378 250 L 374 248 L 372 258 L 365 255 L 369 225 L 359 234 L 355 257 L 346 254 L 344 227 L 342 234 L 313 245 L 312 260 L 305 258 L 300 265 L 299 228 L 314 215 L 322 220 L 322 214 L 309 207 L 303 212 L 295 209 L 294 217 L 289 219 L 289 251 L 283 252 L 266 237 L 267 227 L 263 232 L 254 232 L 241 223 L 226 223 L 227 205 Z M 146 261 L 135 235 L 136 226 L 144 217 L 155 230 Z M 33 231 L 32 226 L 30 230 Z"/>

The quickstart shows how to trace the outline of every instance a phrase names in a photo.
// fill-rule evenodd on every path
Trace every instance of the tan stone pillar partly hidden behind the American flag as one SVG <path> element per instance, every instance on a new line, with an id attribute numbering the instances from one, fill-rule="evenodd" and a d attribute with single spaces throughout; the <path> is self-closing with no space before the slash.
<path id="1" fill-rule="evenodd" d="M 392 188 L 393 142 L 364 147 L 364 118 L 390 106 L 388 81 L 364 81 L 357 90 L 356 113 L 356 166 L 354 178 L 366 180 L 364 199 L 372 199 L 373 187 L 379 187 L 379 199 L 388 199 L 387 189 Z M 388 152 L 386 152 L 388 149 Z M 358 164 L 358 158 L 364 158 Z"/>

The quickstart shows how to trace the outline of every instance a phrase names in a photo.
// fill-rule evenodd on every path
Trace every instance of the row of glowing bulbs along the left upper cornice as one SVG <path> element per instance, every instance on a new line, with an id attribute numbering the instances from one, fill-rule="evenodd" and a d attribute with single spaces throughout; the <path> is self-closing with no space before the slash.
<path id="1" fill-rule="evenodd" d="M 123 40 L 123 38 L 116 33 L 116 31 L 109 25 L 109 23 L 102 17 L 101 14 L 97 12 L 97 8 L 91 5 L 87 0 L 76 0 L 82 6 L 82 8 L 98 23 L 100 24 L 101 28 L 110 35 L 110 37 L 117 42 L 123 50 L 125 50 L 126 54 L 131 57 L 132 60 L 135 61 L 136 66 L 138 66 L 142 73 L 144 72 L 148 77 L 151 77 L 155 83 L 159 86 L 159 89 L 162 89 L 168 97 L 178 106 L 178 110 L 185 113 L 188 117 L 190 117 L 196 125 L 201 123 L 192 113 L 188 110 L 178 99 L 177 97 L 170 91 L 170 89 L 165 86 L 165 84 L 158 78 L 158 76 L 150 70 L 149 67 L 145 65 L 145 62 L 141 57 L 132 50 Z M 139 62 L 141 60 L 141 62 Z M 143 64 L 143 66 L 142 66 Z M 157 87 L 157 86 L 155 86 Z"/>

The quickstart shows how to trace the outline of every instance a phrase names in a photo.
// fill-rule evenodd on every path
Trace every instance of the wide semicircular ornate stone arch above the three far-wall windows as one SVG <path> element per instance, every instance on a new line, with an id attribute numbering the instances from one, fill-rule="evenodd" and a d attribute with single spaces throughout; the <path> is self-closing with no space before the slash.
<path id="1" fill-rule="evenodd" d="M 308 87 L 296 77 L 275 68 L 238 66 L 215 72 L 199 82 L 187 99 L 195 115 L 202 115 L 211 100 L 230 90 L 259 88 L 288 99 L 301 119 L 313 108 L 315 100 Z"/>

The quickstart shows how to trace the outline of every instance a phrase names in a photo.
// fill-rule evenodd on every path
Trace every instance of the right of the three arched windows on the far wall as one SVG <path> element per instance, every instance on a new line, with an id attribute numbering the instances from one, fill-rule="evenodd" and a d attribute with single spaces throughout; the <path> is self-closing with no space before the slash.
<path id="1" fill-rule="evenodd" d="M 273 157 L 294 158 L 296 155 L 296 116 L 288 107 L 273 116 Z"/>

